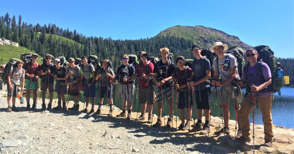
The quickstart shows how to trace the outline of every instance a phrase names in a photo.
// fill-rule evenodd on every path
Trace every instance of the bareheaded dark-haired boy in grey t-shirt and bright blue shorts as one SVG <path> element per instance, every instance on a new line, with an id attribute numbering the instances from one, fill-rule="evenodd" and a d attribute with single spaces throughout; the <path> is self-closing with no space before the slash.
<path id="1" fill-rule="evenodd" d="M 83 56 L 81 57 L 82 60 L 82 66 L 81 66 L 81 82 L 84 87 L 84 96 L 86 97 L 86 108 L 83 110 L 84 113 L 89 112 L 88 105 L 90 102 L 91 97 L 91 103 L 92 108 L 90 110 L 90 114 L 94 112 L 94 106 L 95 106 L 95 97 L 96 97 L 96 71 L 92 64 L 88 64 L 88 57 Z"/>

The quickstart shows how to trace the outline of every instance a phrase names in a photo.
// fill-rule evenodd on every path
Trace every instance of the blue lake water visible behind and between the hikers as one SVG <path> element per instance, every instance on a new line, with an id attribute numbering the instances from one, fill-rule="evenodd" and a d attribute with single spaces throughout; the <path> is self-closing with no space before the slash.
<path id="1" fill-rule="evenodd" d="M 97 85 L 98 89 L 98 85 Z M 97 96 L 96 96 L 96 105 L 98 104 L 98 90 L 96 91 Z M 138 88 L 135 88 L 135 97 L 134 97 L 134 102 L 133 102 L 133 112 L 136 112 L 138 109 Z M 245 95 L 245 89 L 242 90 L 243 97 Z M 175 93 L 174 93 L 175 94 Z M 54 94 L 54 99 L 56 98 L 57 94 Z M 38 97 L 41 97 L 41 94 L 38 94 Z M 211 95 L 212 97 L 212 95 Z M 32 98 L 32 96 L 31 96 Z M 48 95 L 47 95 L 48 98 Z M 66 98 L 67 99 L 67 98 Z M 214 98 L 215 100 L 215 95 Z M 71 99 L 72 100 L 72 97 Z M 122 100 L 120 97 L 120 92 L 119 92 L 119 85 L 113 85 L 113 100 L 114 100 L 114 105 L 120 109 L 122 109 Z M 81 102 L 85 102 L 85 98 L 83 97 L 83 94 L 81 92 L 81 97 L 80 97 Z M 54 102 L 54 100 L 53 100 Z M 213 101 L 215 103 L 215 101 Z M 104 99 L 104 103 L 106 104 L 106 99 Z M 174 99 L 175 103 L 175 99 Z M 168 115 L 168 104 L 167 102 L 164 101 L 164 111 L 165 115 Z M 157 106 L 156 106 L 157 108 Z M 157 110 L 155 108 L 155 114 L 157 114 Z M 294 128 L 294 114 L 293 114 L 293 108 L 294 108 L 294 88 L 282 88 L 281 89 L 281 96 L 278 95 L 278 93 L 274 94 L 274 99 L 272 102 L 272 118 L 273 118 L 273 124 L 277 126 L 284 126 L 286 128 Z M 141 107 L 139 108 L 139 112 L 141 112 Z M 146 110 L 147 112 L 147 110 Z M 255 118 L 254 118 L 254 123 L 256 124 L 263 124 L 262 122 L 262 114 L 258 108 L 254 109 L 255 112 Z M 175 113 L 175 112 L 174 112 Z M 177 111 L 179 115 L 179 109 Z M 197 109 L 195 108 L 195 115 L 197 115 Z M 220 108 L 219 104 L 213 105 L 213 110 L 212 110 L 212 116 L 220 116 Z M 197 116 L 196 116 L 197 117 Z M 193 118 L 193 115 L 192 115 Z M 232 105 L 230 105 L 230 119 L 235 120 L 236 119 L 236 112 L 234 111 L 234 108 Z M 252 123 L 252 112 L 249 115 L 249 121 Z"/>

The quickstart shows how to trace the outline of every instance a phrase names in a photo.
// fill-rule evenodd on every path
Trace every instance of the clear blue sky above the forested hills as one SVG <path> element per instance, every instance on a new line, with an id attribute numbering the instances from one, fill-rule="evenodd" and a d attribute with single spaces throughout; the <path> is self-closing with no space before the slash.
<path id="1" fill-rule="evenodd" d="M 293 0 L 1 1 L 0 15 L 112 39 L 150 38 L 175 25 L 203 25 L 251 46 L 269 45 L 277 57 L 294 57 L 293 8 Z"/>

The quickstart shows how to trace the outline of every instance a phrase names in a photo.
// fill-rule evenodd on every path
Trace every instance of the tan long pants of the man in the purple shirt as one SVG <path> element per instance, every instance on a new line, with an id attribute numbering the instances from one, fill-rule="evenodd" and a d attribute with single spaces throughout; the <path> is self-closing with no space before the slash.
<path id="1" fill-rule="evenodd" d="M 256 107 L 256 99 L 257 97 L 256 95 L 254 95 L 254 107 Z M 272 100 L 273 96 L 258 97 L 258 108 L 262 113 L 262 121 L 264 124 L 264 140 L 266 142 L 273 141 Z M 251 103 L 250 105 L 250 93 L 248 93 L 248 95 L 244 98 L 243 104 L 239 112 L 242 136 L 245 138 L 250 138 L 250 125 L 248 116 L 252 110 L 252 105 L 253 103 Z M 254 110 L 255 109 L 257 108 L 254 108 Z"/>

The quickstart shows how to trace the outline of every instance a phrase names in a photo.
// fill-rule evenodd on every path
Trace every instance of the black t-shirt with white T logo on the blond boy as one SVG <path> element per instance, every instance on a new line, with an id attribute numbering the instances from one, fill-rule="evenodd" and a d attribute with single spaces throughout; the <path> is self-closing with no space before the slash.
<path id="1" fill-rule="evenodd" d="M 174 63 L 171 63 L 168 66 L 168 61 L 165 64 L 163 64 L 162 60 L 159 60 L 159 62 L 156 63 L 155 69 L 154 69 L 154 73 L 157 73 L 157 79 L 159 79 L 160 77 L 162 77 L 163 79 L 166 79 L 166 78 L 170 77 L 171 74 L 174 73 L 174 71 L 175 71 L 175 64 Z M 158 69 L 158 65 L 159 65 L 159 69 Z M 167 74 L 166 74 L 166 71 L 167 71 Z M 169 80 L 168 82 L 165 82 L 165 86 L 167 88 L 168 87 L 171 87 L 171 80 Z M 162 86 L 162 87 L 164 88 L 165 86 Z"/>

